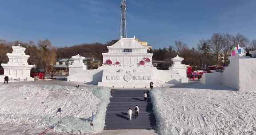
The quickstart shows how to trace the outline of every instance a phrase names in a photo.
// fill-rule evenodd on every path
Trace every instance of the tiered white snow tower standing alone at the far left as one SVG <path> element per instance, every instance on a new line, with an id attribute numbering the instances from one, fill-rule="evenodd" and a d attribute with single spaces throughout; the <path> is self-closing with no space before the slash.
<path id="1" fill-rule="evenodd" d="M 20 46 L 13 46 L 12 53 L 7 53 L 9 58 L 7 64 L 1 64 L 4 68 L 4 75 L 1 75 L 1 80 L 5 75 L 9 77 L 9 80 L 17 81 L 32 81 L 30 77 L 30 70 L 33 65 L 28 65 L 28 55 L 25 55 L 26 48 Z"/>

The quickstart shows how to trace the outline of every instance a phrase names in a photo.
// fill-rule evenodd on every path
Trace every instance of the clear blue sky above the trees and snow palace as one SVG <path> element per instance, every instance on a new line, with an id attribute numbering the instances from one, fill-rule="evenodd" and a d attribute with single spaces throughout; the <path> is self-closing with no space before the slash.
<path id="1" fill-rule="evenodd" d="M 0 0 L 0 39 L 72 46 L 119 38 L 121 0 Z M 127 0 L 127 34 L 153 48 L 214 32 L 256 39 L 256 0 Z"/>

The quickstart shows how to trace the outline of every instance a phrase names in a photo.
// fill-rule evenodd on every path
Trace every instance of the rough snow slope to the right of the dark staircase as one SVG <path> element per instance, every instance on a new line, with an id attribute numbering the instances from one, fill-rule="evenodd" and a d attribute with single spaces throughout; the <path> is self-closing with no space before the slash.
<path id="1" fill-rule="evenodd" d="M 161 135 L 256 135 L 256 92 L 197 82 L 152 90 Z"/>

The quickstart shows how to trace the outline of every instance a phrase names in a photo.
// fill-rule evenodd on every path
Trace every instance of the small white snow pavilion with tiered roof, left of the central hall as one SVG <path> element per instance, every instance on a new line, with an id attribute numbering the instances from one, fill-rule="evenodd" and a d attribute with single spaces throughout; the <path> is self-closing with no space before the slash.
<path id="1" fill-rule="evenodd" d="M 87 69 L 87 66 L 84 65 L 84 63 L 83 63 L 83 60 L 84 60 L 83 56 L 80 56 L 78 54 L 77 56 L 72 56 L 72 59 L 74 60 L 74 62 L 72 63 L 72 65 L 68 66 L 69 75 L 74 75 L 75 73 L 77 73 L 81 70 Z"/>

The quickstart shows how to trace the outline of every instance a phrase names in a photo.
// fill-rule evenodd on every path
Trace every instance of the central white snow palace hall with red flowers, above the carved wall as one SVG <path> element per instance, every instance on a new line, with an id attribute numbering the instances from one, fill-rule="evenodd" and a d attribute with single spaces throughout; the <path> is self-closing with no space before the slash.
<path id="1" fill-rule="evenodd" d="M 108 53 L 103 53 L 103 62 L 124 67 L 152 66 L 152 53 L 148 47 L 141 45 L 134 38 L 121 38 L 116 44 L 108 47 Z"/>

